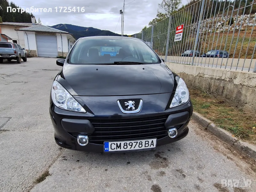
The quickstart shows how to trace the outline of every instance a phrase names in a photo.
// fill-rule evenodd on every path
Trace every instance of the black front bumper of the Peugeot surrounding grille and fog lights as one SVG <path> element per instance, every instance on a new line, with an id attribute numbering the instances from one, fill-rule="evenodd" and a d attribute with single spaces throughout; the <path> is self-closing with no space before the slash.
<path id="1" fill-rule="evenodd" d="M 109 120 L 137 120 L 137 119 L 146 119 L 146 118 L 155 118 L 156 116 L 166 116 L 163 125 L 164 127 L 161 128 L 161 136 L 157 137 L 156 146 L 165 145 L 168 143 L 172 143 L 178 141 L 188 134 L 188 123 L 190 121 L 190 117 L 193 112 L 193 107 L 191 101 L 189 100 L 182 106 L 167 109 L 163 112 L 152 112 L 148 114 L 143 114 L 142 112 L 138 114 L 125 114 L 120 116 L 119 114 L 114 114 L 111 116 L 100 116 L 100 115 L 89 115 L 89 114 L 82 114 L 72 111 L 66 111 L 60 108 L 55 107 L 52 102 L 50 104 L 50 116 L 52 120 L 52 124 L 54 127 L 54 138 L 56 143 L 63 147 L 72 150 L 78 151 L 87 151 L 87 152 L 103 152 L 103 142 L 102 141 L 92 141 L 91 139 L 94 138 L 94 135 L 97 132 L 97 128 L 94 128 L 94 124 L 92 125 L 91 122 L 95 120 L 103 119 L 104 121 Z M 142 113 L 142 114 L 141 114 Z M 159 117 L 159 118 L 160 118 Z M 167 134 L 167 131 L 170 128 L 177 128 L 178 134 L 175 138 L 170 138 Z M 90 138 L 89 143 L 86 146 L 80 146 L 77 143 L 76 136 L 77 134 L 86 134 Z M 144 133 L 143 133 L 144 134 Z M 98 134 L 99 135 L 99 134 Z M 166 136 L 165 136 L 166 135 Z M 99 137 L 99 136 L 98 136 Z M 155 138 L 154 133 L 148 132 L 143 135 L 143 138 Z M 103 137 L 104 138 L 104 137 Z M 124 138 L 124 137 L 123 137 Z M 140 139 L 133 139 L 128 138 L 126 140 L 140 140 Z M 116 139 L 119 140 L 119 139 Z M 110 141 L 106 139 L 106 141 Z M 112 140 L 111 140 L 112 141 Z M 148 149 L 144 149 L 148 150 Z M 149 149 L 150 150 L 150 149 Z"/>

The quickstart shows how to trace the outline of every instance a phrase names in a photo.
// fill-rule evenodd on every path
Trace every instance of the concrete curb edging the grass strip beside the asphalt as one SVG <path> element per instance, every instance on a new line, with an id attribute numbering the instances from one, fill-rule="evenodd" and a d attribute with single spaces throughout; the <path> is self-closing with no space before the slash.
<path id="1" fill-rule="evenodd" d="M 197 123 L 202 125 L 205 129 L 212 132 L 215 136 L 220 138 L 225 143 L 231 145 L 233 148 L 241 151 L 246 156 L 256 160 L 256 147 L 250 143 L 239 140 L 236 137 L 233 137 L 231 133 L 227 132 L 224 129 L 217 127 L 212 121 L 204 118 L 199 113 L 193 112 L 192 118 L 196 120 Z"/>

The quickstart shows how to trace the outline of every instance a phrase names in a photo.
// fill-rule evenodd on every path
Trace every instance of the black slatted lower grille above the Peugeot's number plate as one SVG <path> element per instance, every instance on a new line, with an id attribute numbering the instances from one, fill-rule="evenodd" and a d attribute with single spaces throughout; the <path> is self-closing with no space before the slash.
<path id="1" fill-rule="evenodd" d="M 95 132 L 89 136 L 90 143 L 104 141 L 135 140 L 167 136 L 164 123 L 168 116 L 154 116 L 134 119 L 92 119 Z"/>

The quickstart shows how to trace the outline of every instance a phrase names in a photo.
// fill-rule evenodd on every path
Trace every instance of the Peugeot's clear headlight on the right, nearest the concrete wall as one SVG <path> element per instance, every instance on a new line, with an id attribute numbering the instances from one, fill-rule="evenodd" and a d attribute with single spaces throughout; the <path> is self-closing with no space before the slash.
<path id="1" fill-rule="evenodd" d="M 183 81 L 183 79 L 179 79 L 176 92 L 174 94 L 174 97 L 172 99 L 172 103 L 170 105 L 170 108 L 177 107 L 179 105 L 182 105 L 189 100 L 189 92 L 188 88 Z"/>

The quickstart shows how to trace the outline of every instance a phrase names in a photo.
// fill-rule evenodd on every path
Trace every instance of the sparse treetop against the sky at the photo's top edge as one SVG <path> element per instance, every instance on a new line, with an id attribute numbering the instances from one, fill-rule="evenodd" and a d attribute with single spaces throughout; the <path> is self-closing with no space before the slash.
<path id="1" fill-rule="evenodd" d="M 176 11 L 181 4 L 181 0 L 163 0 L 158 7 L 168 16 L 170 16 L 174 11 Z"/>

